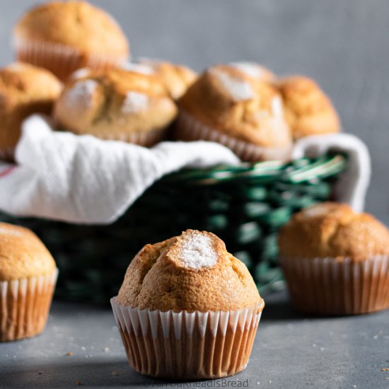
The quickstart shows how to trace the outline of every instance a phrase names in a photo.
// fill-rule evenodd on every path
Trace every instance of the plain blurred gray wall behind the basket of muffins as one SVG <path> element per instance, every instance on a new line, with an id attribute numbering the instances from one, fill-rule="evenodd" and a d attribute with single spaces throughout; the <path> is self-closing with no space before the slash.
<path id="1" fill-rule="evenodd" d="M 11 29 L 38 1 L 0 1 L 0 65 Z M 366 142 L 373 180 L 366 209 L 389 224 L 389 1 L 105 0 L 134 57 L 209 64 L 246 59 L 306 74 L 334 101 L 346 132 Z"/>

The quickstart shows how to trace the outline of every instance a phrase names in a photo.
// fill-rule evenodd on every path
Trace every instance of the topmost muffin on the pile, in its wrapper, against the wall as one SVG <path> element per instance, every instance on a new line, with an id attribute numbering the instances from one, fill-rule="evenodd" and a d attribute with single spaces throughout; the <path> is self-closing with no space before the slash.
<path id="1" fill-rule="evenodd" d="M 82 67 L 106 69 L 129 58 L 121 28 L 86 1 L 52 1 L 30 9 L 13 31 L 19 61 L 52 71 L 59 79 Z"/>

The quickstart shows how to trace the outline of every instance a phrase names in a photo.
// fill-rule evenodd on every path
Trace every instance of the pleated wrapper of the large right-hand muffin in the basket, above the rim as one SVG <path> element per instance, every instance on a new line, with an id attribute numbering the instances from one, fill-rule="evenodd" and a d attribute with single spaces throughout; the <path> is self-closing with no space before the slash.
<path id="1" fill-rule="evenodd" d="M 183 141 L 215 141 L 231 149 L 242 161 L 286 161 L 291 156 L 291 146 L 261 147 L 212 129 L 195 120 L 187 112 L 180 112 L 176 123 L 176 137 Z"/>

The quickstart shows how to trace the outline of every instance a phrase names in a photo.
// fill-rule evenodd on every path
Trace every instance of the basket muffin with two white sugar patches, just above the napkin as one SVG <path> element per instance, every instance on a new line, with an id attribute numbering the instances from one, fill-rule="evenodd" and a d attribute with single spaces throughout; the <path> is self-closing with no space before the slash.
<path id="1" fill-rule="evenodd" d="M 157 76 L 124 69 L 73 76 L 54 107 L 60 129 L 143 146 L 163 139 L 176 114 Z"/>

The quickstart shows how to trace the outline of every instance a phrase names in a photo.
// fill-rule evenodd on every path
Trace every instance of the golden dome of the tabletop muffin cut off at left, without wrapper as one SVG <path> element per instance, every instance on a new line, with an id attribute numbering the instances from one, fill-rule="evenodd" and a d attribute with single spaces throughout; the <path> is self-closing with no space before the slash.
<path id="1" fill-rule="evenodd" d="M 0 281 L 50 274 L 55 262 L 28 228 L 0 223 Z"/>

